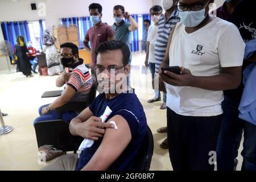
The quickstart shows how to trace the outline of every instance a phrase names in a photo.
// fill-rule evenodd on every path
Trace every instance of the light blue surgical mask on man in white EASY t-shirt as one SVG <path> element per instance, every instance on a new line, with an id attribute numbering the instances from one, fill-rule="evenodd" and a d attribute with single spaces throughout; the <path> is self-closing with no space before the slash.
<path id="1" fill-rule="evenodd" d="M 186 27 L 196 27 L 205 19 L 205 9 L 200 11 L 179 11 L 181 22 Z"/>

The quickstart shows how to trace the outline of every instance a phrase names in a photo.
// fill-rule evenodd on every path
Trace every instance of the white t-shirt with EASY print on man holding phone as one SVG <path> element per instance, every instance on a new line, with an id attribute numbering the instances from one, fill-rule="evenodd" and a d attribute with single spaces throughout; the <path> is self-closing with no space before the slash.
<path id="1" fill-rule="evenodd" d="M 180 66 L 193 76 L 214 76 L 221 67 L 242 65 L 245 43 L 238 28 L 215 18 L 188 34 L 183 23 L 176 24 L 170 46 L 170 66 Z M 208 117 L 222 114 L 223 91 L 166 84 L 167 106 L 180 115 Z"/>

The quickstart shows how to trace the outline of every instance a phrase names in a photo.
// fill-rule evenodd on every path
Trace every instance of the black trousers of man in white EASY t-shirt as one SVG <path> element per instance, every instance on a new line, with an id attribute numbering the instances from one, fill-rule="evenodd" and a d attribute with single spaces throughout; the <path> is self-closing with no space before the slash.
<path id="1" fill-rule="evenodd" d="M 213 171 L 222 115 L 192 117 L 167 107 L 167 137 L 174 171 Z"/>

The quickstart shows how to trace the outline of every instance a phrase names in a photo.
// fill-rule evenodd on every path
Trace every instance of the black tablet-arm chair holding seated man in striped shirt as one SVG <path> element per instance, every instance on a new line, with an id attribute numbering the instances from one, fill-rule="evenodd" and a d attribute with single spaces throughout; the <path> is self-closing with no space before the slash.
<path id="1" fill-rule="evenodd" d="M 35 123 L 36 140 L 38 142 L 38 148 L 44 145 L 53 145 L 53 147 L 62 150 L 64 152 L 74 151 L 76 152 L 81 144 L 83 138 L 75 137 L 69 132 L 69 123 L 62 120 L 62 113 L 64 111 L 82 111 L 93 102 L 96 97 L 97 85 L 93 84 L 90 93 L 89 100 L 86 102 L 69 102 L 55 110 L 59 113 L 59 119 L 53 121 L 41 121 Z M 48 93 L 56 95 L 56 91 L 50 91 Z M 45 93 L 43 95 L 46 95 Z M 49 97 L 53 97 L 48 94 Z M 43 97 L 46 98 L 46 97 Z M 69 121 L 70 122 L 70 121 Z"/>

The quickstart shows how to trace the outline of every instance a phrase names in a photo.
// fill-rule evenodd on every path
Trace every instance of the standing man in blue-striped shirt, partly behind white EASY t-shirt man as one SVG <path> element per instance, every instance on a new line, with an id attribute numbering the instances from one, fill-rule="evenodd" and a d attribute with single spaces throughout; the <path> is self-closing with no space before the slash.
<path id="1" fill-rule="evenodd" d="M 159 19 L 158 23 L 158 38 L 155 43 L 155 73 L 159 72 L 160 64 L 164 59 L 170 32 L 176 23 L 180 22 L 176 10 L 178 0 L 163 0 L 162 2 L 166 13 Z M 166 93 L 163 93 L 163 104 L 160 109 L 166 109 Z M 167 127 L 161 127 L 157 131 L 158 133 L 167 133 Z M 160 147 L 168 148 L 167 138 L 160 144 Z"/>

